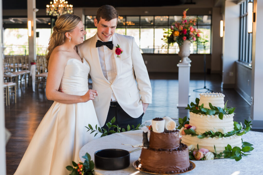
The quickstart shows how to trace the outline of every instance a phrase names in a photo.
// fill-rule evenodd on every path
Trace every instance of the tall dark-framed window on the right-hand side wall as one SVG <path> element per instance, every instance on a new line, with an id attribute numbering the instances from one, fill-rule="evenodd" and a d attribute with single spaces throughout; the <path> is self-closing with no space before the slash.
<path id="1" fill-rule="evenodd" d="M 240 25 L 239 25 L 239 61 L 251 64 L 252 62 L 252 33 L 247 33 L 247 3 L 240 4 Z"/>

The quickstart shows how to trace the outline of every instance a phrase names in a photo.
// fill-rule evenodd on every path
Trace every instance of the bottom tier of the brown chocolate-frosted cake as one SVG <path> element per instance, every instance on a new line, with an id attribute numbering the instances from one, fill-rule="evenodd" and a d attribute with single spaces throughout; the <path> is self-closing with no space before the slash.
<path id="1" fill-rule="evenodd" d="M 190 167 L 188 147 L 180 144 L 176 150 L 141 150 L 141 169 L 153 173 L 178 173 Z"/>

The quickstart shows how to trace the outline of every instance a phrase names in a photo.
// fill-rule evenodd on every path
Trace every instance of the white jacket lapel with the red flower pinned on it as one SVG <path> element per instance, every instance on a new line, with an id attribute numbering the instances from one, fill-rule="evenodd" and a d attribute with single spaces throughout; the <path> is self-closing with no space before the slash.
<path id="1" fill-rule="evenodd" d="M 119 57 L 117 57 L 118 55 L 115 52 L 118 44 L 119 44 L 120 48 L 122 48 L 122 43 L 120 42 L 120 39 L 116 33 L 114 33 L 114 35 L 112 36 L 112 44 L 113 44 L 112 50 L 113 50 L 113 55 L 114 55 L 114 59 L 115 59 L 116 71 L 117 71 L 117 75 L 113 81 L 113 83 L 114 83 L 122 71 L 122 54 L 120 54 Z"/>

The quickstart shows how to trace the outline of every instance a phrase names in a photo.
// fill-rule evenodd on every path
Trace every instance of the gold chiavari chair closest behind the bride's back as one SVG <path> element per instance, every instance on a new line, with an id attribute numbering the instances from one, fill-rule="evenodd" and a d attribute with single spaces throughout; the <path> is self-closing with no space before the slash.
<path id="1" fill-rule="evenodd" d="M 45 87 L 46 82 L 47 82 L 47 64 L 46 64 L 46 59 L 45 56 L 37 56 L 37 88 L 39 88 L 39 84 L 42 83 L 43 87 Z"/>

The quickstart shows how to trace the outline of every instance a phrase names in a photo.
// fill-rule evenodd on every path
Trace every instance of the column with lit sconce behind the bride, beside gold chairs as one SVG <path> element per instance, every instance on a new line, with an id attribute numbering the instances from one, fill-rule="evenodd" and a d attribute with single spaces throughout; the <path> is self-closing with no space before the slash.
<path id="1" fill-rule="evenodd" d="M 32 35 L 28 36 L 28 58 L 30 62 L 37 59 L 36 55 L 36 0 L 27 0 L 27 21 L 31 21 Z"/>

